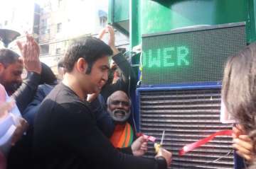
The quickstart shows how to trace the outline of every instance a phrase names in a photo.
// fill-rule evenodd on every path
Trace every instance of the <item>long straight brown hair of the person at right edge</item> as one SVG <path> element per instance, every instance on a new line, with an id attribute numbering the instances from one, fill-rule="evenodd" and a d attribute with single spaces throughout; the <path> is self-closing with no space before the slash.
<path id="1" fill-rule="evenodd" d="M 256 44 L 230 57 L 223 76 L 222 97 L 228 112 L 256 145 Z M 256 153 L 256 152 L 254 152 Z M 255 168 L 256 165 L 252 165 Z"/>

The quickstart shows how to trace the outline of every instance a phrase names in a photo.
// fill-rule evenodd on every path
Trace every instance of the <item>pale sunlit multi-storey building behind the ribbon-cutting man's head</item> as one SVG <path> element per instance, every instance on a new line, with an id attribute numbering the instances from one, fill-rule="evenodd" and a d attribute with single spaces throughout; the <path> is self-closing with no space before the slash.
<path id="1" fill-rule="evenodd" d="M 57 73 L 58 61 L 73 39 L 97 36 L 105 28 L 107 5 L 105 0 L 48 0 L 43 4 L 38 39 L 41 61 Z M 126 48 L 128 44 L 128 37 L 116 32 L 116 45 Z"/>

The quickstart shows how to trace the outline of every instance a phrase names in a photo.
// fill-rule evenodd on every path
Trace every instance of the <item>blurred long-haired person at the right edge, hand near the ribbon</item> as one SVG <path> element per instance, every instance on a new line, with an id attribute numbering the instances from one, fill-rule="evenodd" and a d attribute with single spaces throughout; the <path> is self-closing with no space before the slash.
<path id="1" fill-rule="evenodd" d="M 238 122 L 233 127 L 236 153 L 256 168 L 256 44 L 228 59 L 222 97 L 228 113 Z"/>

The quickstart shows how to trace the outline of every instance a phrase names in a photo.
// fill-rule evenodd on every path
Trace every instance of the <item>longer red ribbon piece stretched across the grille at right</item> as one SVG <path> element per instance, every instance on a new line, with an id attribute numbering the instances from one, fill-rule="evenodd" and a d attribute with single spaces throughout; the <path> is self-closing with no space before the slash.
<path id="1" fill-rule="evenodd" d="M 220 132 L 215 132 L 211 134 L 210 136 L 206 137 L 205 139 L 201 139 L 199 141 L 196 141 L 192 144 L 187 144 L 186 146 L 183 146 L 183 148 L 178 152 L 179 156 L 183 156 L 185 153 L 188 153 L 188 151 L 192 151 L 193 149 L 202 146 L 203 144 L 208 143 L 210 140 L 212 140 L 215 136 L 231 136 L 233 133 L 232 130 L 222 130 Z"/>

